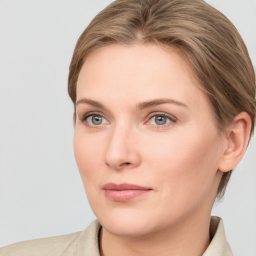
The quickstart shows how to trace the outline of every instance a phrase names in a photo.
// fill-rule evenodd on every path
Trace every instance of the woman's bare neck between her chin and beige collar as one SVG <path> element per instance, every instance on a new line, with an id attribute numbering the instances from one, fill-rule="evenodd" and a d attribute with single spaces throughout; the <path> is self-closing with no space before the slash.
<path id="1" fill-rule="evenodd" d="M 101 229 L 101 256 L 175 255 L 200 256 L 210 242 L 210 215 L 182 219 L 174 226 L 154 233 L 124 237 Z"/>

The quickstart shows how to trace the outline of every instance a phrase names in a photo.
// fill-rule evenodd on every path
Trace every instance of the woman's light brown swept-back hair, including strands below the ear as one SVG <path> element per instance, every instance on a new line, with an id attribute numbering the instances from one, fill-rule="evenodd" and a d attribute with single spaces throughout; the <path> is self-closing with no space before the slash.
<path id="1" fill-rule="evenodd" d="M 255 73 L 234 25 L 203 0 L 116 0 L 100 11 L 80 35 L 69 66 L 68 93 L 76 102 L 76 82 L 84 60 L 110 44 L 156 44 L 176 50 L 206 92 L 218 131 L 242 111 L 255 122 Z M 232 170 L 223 173 L 216 198 Z"/>

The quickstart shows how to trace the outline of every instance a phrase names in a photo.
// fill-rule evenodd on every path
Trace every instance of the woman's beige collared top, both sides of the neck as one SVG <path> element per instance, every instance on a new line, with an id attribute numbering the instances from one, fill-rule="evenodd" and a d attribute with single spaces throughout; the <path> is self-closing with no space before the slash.
<path id="1" fill-rule="evenodd" d="M 83 231 L 22 241 L 0 248 L 0 256 L 100 256 L 98 234 L 101 228 L 94 220 Z M 212 216 L 211 242 L 202 256 L 233 256 L 226 241 L 221 218 Z"/>

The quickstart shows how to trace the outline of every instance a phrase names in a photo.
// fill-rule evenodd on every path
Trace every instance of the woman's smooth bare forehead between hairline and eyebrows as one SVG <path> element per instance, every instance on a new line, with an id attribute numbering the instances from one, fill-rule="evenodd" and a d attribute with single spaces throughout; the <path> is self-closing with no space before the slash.
<path id="1" fill-rule="evenodd" d="M 171 97 L 186 104 L 206 96 L 193 84 L 189 63 L 157 45 L 110 45 L 88 57 L 78 76 L 77 100 L 144 101 Z"/>

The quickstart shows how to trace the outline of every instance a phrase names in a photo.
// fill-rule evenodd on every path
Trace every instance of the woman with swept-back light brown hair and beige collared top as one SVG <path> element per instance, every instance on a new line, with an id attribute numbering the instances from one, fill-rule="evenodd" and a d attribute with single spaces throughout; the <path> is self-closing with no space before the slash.
<path id="1" fill-rule="evenodd" d="M 232 255 L 210 212 L 253 132 L 255 76 L 230 21 L 201 0 L 117 0 L 78 39 L 68 92 L 98 221 L 0 255 Z"/>

